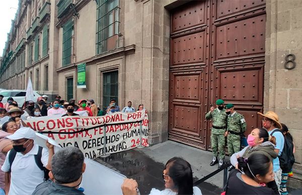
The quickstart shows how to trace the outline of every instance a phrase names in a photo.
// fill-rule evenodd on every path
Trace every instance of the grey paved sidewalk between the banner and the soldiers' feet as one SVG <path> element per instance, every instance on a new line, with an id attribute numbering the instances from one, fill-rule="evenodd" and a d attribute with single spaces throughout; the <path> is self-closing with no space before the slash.
<path id="1" fill-rule="evenodd" d="M 179 156 L 186 159 L 192 167 L 194 181 L 217 169 L 210 166 L 212 153 L 174 141 L 166 141 L 142 149 L 133 149 L 111 154 L 96 161 L 138 182 L 140 194 L 149 194 L 152 188 L 164 189 L 162 177 L 166 162 Z M 228 156 L 225 156 L 229 160 Z M 223 171 L 198 185 L 202 194 L 220 194 L 222 191 Z M 302 189 L 288 188 L 290 194 L 302 194 Z"/>

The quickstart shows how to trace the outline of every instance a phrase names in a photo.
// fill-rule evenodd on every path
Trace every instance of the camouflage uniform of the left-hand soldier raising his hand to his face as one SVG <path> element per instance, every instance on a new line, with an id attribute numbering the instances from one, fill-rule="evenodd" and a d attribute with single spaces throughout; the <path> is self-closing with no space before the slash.
<path id="1" fill-rule="evenodd" d="M 218 108 L 214 109 L 213 112 L 208 112 L 205 115 L 207 120 L 212 119 L 212 129 L 211 129 L 211 147 L 213 150 L 213 156 L 217 157 L 219 152 L 219 159 L 224 159 L 224 144 L 225 144 L 225 126 L 226 119 L 228 115 L 225 113 L 225 109 L 222 109 L 220 112 Z M 224 127 L 222 129 L 215 129 L 214 127 Z"/>

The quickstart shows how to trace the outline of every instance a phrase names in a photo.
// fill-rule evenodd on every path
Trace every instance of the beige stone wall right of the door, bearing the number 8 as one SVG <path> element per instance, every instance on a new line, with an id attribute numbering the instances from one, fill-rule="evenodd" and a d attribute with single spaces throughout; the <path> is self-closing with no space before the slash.
<path id="1" fill-rule="evenodd" d="M 274 111 L 289 128 L 295 144 L 295 167 L 302 163 L 302 1 L 267 1 L 264 112 Z M 296 66 L 285 69 L 285 56 Z M 300 167 L 300 168 L 299 168 Z M 301 170 L 301 169 L 300 169 Z"/>

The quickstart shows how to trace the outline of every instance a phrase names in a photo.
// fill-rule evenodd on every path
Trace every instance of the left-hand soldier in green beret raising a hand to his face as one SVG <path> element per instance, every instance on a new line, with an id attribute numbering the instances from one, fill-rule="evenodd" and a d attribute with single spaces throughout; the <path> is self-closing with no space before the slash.
<path id="1" fill-rule="evenodd" d="M 213 159 L 210 166 L 218 163 L 218 152 L 219 152 L 219 165 L 220 168 L 223 165 L 224 159 L 224 144 L 225 144 L 225 130 L 226 130 L 226 119 L 228 115 L 225 113 L 223 106 L 223 100 L 216 101 L 216 109 L 211 107 L 210 111 L 205 115 L 207 120 L 212 119 L 212 129 L 211 129 L 211 147 L 213 150 Z"/>

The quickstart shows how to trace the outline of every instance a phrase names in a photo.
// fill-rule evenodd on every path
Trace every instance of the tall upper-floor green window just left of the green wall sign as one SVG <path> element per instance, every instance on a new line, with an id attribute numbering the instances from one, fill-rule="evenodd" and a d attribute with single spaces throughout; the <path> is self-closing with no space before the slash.
<path id="1" fill-rule="evenodd" d="M 70 19 L 63 26 L 62 66 L 71 63 L 73 21 Z"/>

